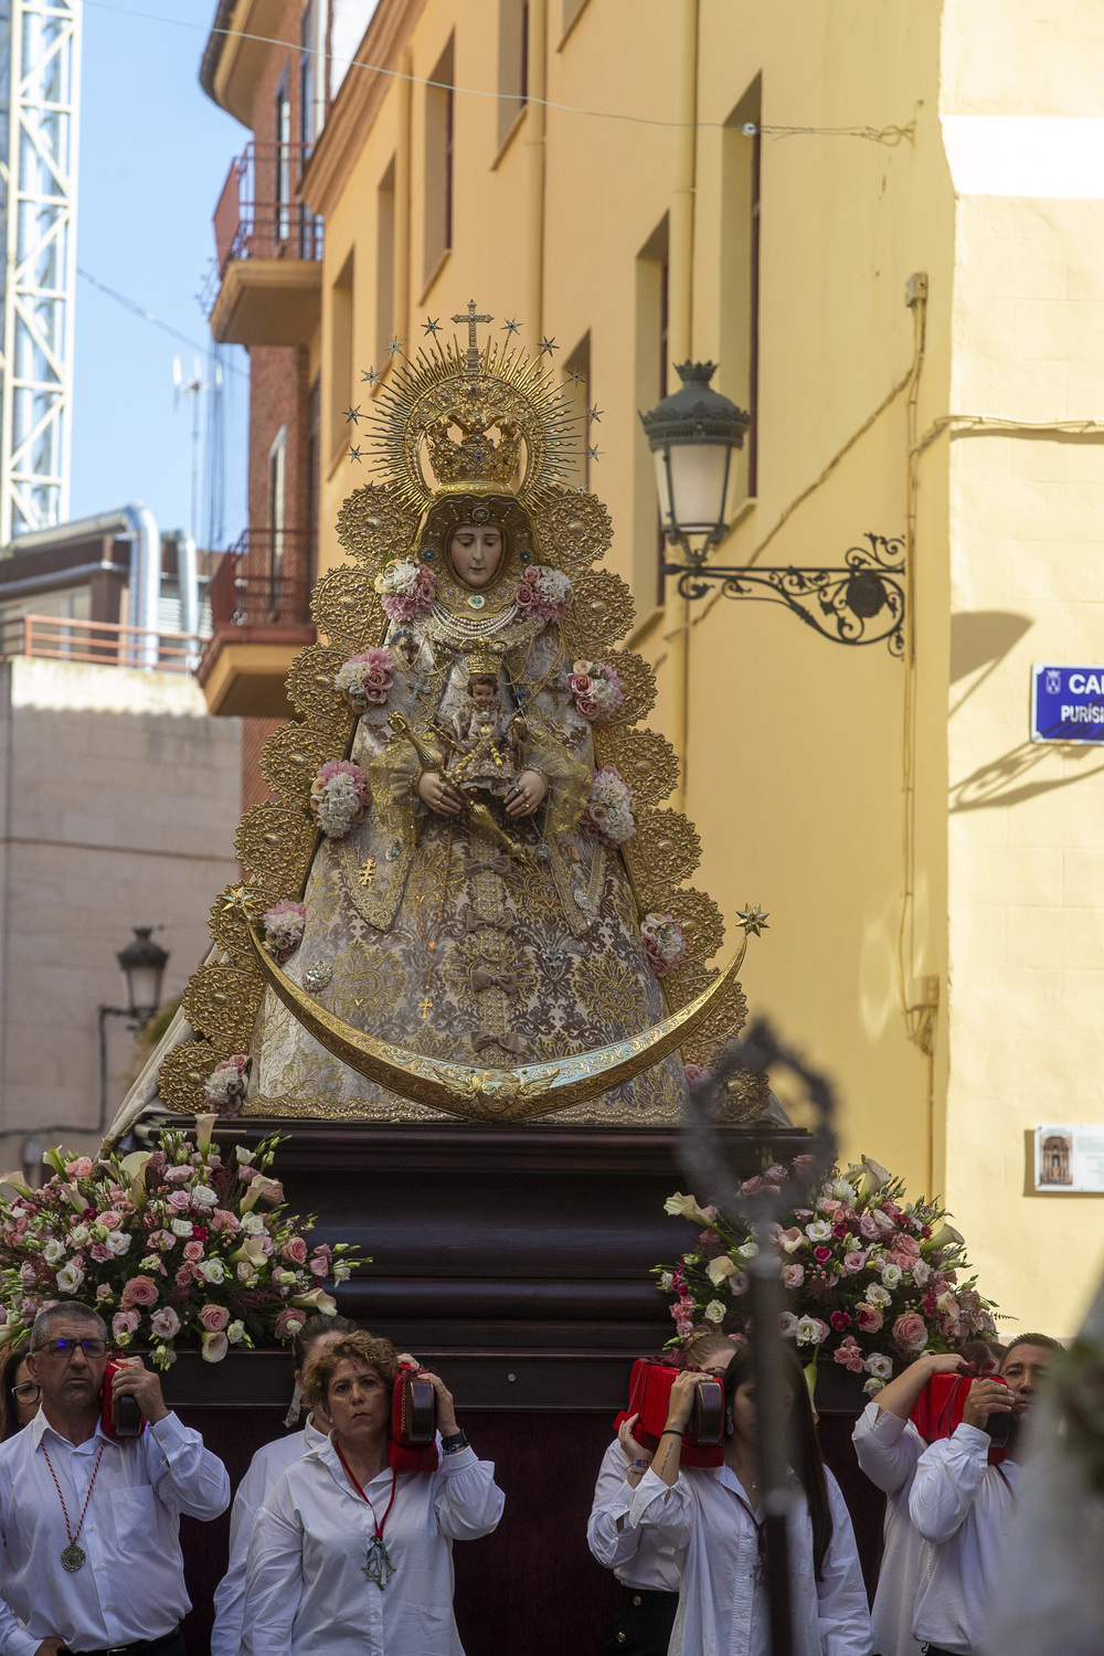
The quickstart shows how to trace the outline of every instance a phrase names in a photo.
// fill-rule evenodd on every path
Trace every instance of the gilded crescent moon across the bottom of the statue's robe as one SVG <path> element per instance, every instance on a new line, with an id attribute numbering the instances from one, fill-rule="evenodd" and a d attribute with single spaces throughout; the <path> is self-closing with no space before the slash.
<path id="1" fill-rule="evenodd" d="M 288 1007 L 308 1035 L 351 1070 L 417 1105 L 429 1105 L 467 1121 L 520 1121 L 548 1116 L 581 1105 L 622 1081 L 649 1070 L 705 1022 L 737 980 L 748 947 L 746 932 L 735 959 L 703 994 L 682 1012 L 672 1013 L 641 1035 L 598 1047 L 593 1052 L 556 1058 L 554 1063 L 526 1063 L 513 1070 L 487 1070 L 467 1063 L 442 1063 L 406 1047 L 366 1035 L 336 1018 L 311 995 L 293 984 L 265 949 L 250 924 L 257 964 L 273 994 Z"/>

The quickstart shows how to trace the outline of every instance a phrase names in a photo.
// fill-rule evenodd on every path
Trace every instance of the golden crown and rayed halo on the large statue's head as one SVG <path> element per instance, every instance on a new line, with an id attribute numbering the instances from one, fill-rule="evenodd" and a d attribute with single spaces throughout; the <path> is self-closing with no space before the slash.
<path id="1" fill-rule="evenodd" d="M 540 508 L 564 487 L 579 445 L 578 417 L 553 371 L 520 346 L 488 339 L 478 349 L 475 321 L 493 318 L 454 316 L 460 320 L 468 326 L 467 349 L 434 336 L 415 358 L 394 358 L 391 383 L 369 416 L 367 449 L 397 498 L 419 515 L 449 493 L 513 495 Z"/>

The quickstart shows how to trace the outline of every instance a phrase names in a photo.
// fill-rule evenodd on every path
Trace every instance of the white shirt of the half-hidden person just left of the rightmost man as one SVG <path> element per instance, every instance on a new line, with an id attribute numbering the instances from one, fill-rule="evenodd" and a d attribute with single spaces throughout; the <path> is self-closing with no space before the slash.
<path id="1" fill-rule="evenodd" d="M 882 1567 L 871 1610 L 874 1649 L 877 1656 L 920 1656 L 920 1644 L 912 1636 L 912 1611 L 932 1548 L 909 1517 L 909 1495 L 927 1439 L 912 1421 L 867 1403 L 851 1441 L 859 1466 L 886 1494 Z"/>

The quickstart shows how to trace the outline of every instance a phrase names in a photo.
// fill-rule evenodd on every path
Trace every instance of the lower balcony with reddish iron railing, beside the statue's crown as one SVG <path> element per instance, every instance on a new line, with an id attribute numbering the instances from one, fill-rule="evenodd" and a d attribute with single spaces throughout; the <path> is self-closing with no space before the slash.
<path id="1" fill-rule="evenodd" d="M 214 714 L 288 719 L 285 679 L 316 633 L 311 530 L 250 528 L 227 551 L 210 583 L 212 638 L 199 682 Z"/>

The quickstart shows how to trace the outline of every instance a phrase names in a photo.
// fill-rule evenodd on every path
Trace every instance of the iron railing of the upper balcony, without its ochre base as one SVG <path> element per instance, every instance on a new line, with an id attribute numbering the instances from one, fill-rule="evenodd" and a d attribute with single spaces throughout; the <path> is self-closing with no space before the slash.
<path id="1" fill-rule="evenodd" d="M 218 280 L 235 258 L 321 258 L 323 220 L 296 195 L 310 144 L 247 144 L 215 207 Z"/>

